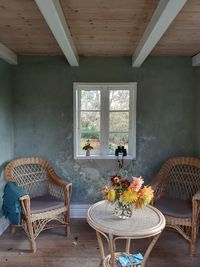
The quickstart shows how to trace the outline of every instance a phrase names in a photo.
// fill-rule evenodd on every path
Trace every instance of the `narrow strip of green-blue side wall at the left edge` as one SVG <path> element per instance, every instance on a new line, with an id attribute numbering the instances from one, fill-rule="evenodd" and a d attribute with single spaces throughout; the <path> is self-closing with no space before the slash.
<path id="1" fill-rule="evenodd" d="M 0 60 L 0 218 L 4 189 L 3 168 L 13 158 L 12 67 Z"/>

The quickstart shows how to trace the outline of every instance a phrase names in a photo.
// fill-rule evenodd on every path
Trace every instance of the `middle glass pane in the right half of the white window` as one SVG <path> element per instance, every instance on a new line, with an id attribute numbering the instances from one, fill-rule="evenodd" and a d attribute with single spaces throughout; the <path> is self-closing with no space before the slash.
<path id="1" fill-rule="evenodd" d="M 110 112 L 109 131 L 128 132 L 129 112 Z"/>

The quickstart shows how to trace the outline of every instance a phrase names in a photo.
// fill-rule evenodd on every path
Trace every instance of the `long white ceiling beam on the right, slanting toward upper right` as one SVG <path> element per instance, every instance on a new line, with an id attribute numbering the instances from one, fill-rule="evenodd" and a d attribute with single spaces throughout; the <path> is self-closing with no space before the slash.
<path id="1" fill-rule="evenodd" d="M 160 0 L 135 50 L 133 67 L 140 67 L 178 15 L 187 0 Z"/>

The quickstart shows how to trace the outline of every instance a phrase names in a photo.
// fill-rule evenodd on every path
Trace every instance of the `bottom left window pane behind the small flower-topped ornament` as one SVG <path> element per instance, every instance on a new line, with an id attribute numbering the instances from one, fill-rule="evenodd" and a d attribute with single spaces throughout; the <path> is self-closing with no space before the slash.
<path id="1" fill-rule="evenodd" d="M 99 138 L 99 132 L 82 132 L 81 133 L 81 142 L 80 142 L 80 152 L 81 154 L 85 154 L 85 150 L 83 150 L 83 147 L 87 144 L 88 140 L 90 145 L 93 147 L 93 149 L 90 151 L 91 155 L 93 154 L 99 154 L 100 152 L 100 138 Z"/>

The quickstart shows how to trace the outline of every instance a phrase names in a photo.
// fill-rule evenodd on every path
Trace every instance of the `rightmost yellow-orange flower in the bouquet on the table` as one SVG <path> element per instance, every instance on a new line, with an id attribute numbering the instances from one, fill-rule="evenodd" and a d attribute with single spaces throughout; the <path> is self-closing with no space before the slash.
<path id="1" fill-rule="evenodd" d="M 151 202 L 152 199 L 153 199 L 153 189 L 151 188 L 151 186 L 149 187 L 145 186 L 139 191 L 139 197 L 136 201 L 136 207 L 144 208 Z"/>

